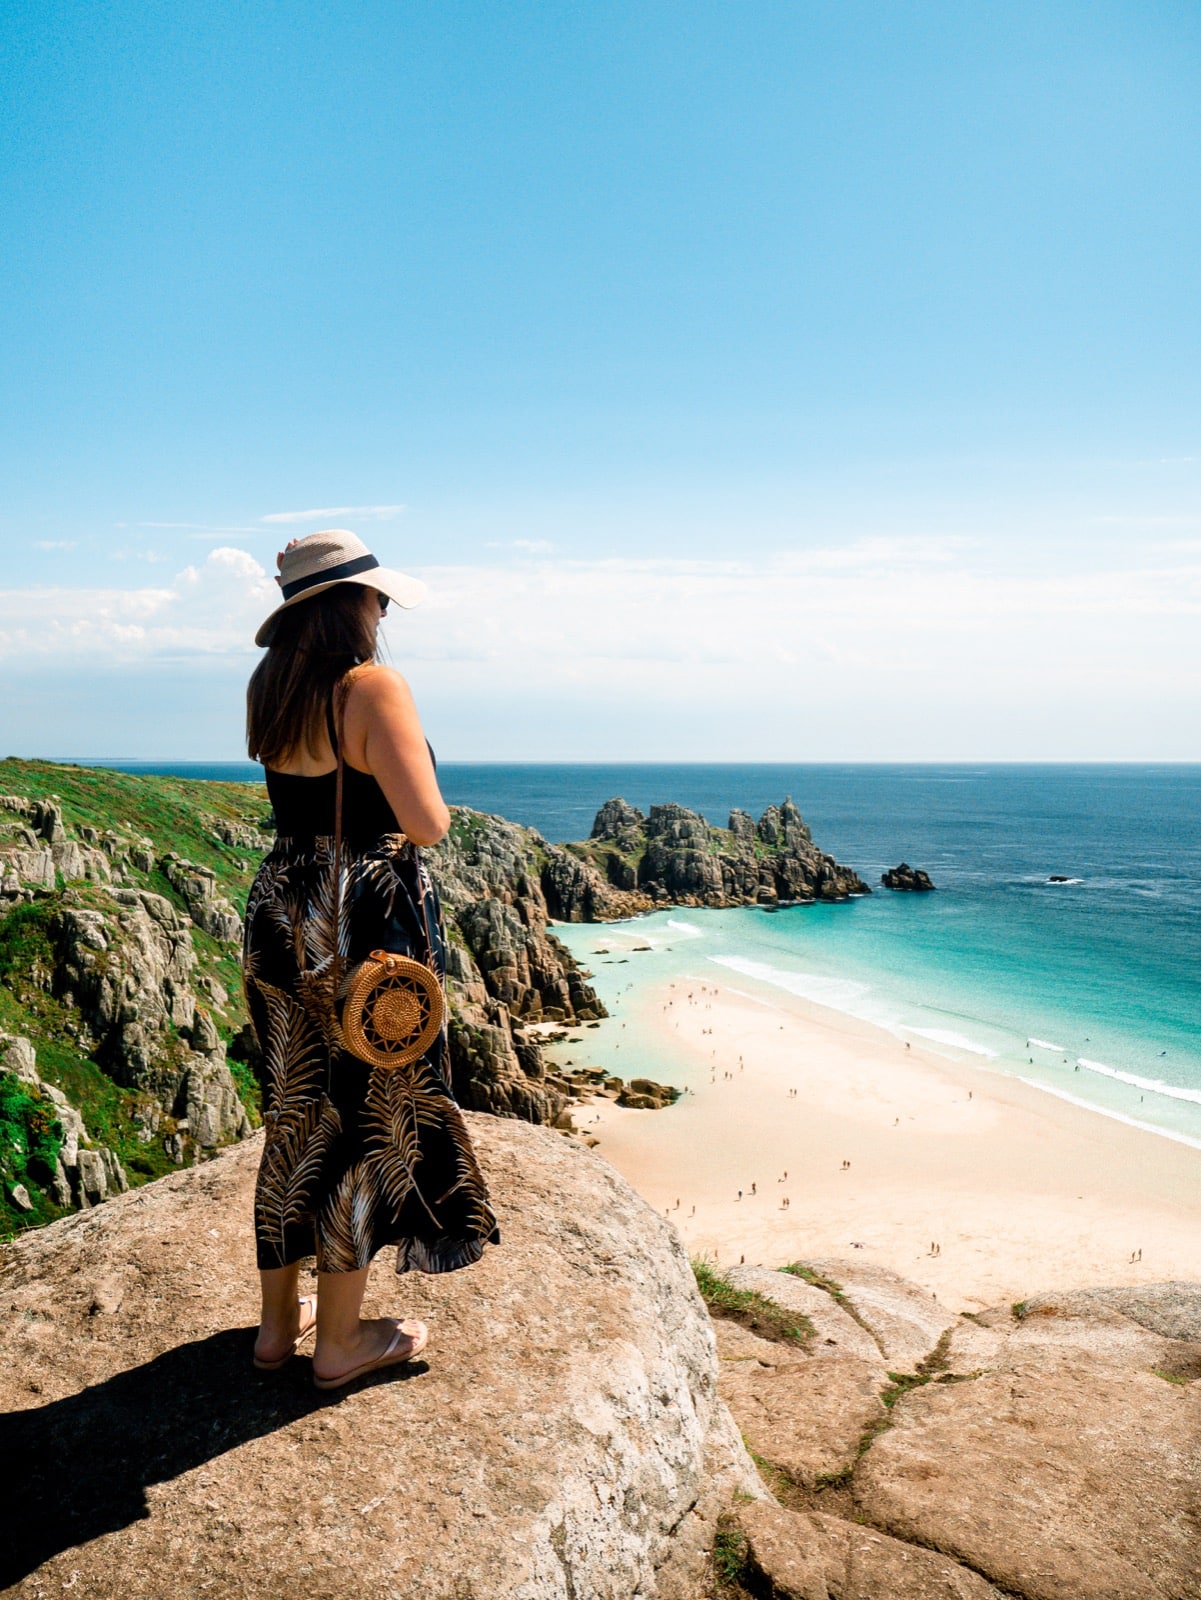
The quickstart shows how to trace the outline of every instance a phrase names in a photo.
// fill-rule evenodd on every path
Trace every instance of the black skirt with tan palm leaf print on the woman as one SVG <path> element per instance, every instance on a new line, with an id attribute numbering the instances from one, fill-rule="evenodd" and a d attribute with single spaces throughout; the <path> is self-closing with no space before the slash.
<path id="1" fill-rule="evenodd" d="M 403 835 L 369 850 L 344 843 L 341 874 L 333 838 L 277 840 L 249 891 L 243 944 L 262 1051 L 259 1267 L 315 1254 L 318 1272 L 353 1272 L 397 1245 L 397 1272 L 454 1272 L 499 1232 L 448 1086 L 446 1030 L 406 1067 L 369 1067 L 342 1048 L 331 1003 L 337 893 L 344 973 L 385 949 L 445 976 L 437 891 Z"/>

